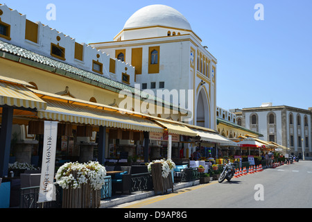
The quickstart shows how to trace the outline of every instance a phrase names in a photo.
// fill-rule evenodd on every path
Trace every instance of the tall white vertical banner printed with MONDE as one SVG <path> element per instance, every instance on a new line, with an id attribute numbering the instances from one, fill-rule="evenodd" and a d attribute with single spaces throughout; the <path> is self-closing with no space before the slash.
<path id="1" fill-rule="evenodd" d="M 44 146 L 38 203 L 55 200 L 53 185 L 58 122 L 44 121 Z"/>

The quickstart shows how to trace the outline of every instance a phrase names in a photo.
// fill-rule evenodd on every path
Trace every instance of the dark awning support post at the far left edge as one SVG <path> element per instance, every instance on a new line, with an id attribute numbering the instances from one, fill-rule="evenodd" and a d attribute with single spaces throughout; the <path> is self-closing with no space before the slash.
<path id="1" fill-rule="evenodd" d="M 8 176 L 10 159 L 10 146 L 13 122 L 13 108 L 2 108 L 2 121 L 0 133 L 0 178 Z"/>

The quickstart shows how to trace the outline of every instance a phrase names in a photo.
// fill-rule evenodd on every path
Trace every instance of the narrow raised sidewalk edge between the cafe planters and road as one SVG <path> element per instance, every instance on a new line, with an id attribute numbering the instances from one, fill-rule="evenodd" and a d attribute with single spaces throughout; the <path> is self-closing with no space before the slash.
<path id="1" fill-rule="evenodd" d="M 178 189 L 182 189 L 185 187 L 192 187 L 199 185 L 199 180 L 191 181 L 191 182 L 179 182 L 173 184 L 173 191 L 176 191 Z M 171 189 L 168 189 L 168 193 L 171 192 Z M 141 200 L 144 198 L 148 198 L 150 196 L 155 196 L 155 191 L 136 191 L 133 192 L 130 195 L 121 194 L 121 195 L 115 195 L 112 196 L 110 200 L 101 200 L 101 206 L 100 208 L 108 208 L 108 207 L 114 207 L 116 205 L 121 205 L 123 203 L 130 203 L 135 200 Z"/>

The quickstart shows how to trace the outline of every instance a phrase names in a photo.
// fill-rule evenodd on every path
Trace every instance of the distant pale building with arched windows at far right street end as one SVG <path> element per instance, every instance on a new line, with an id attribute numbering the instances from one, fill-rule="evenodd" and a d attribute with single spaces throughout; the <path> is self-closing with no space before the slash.
<path id="1" fill-rule="evenodd" d="M 259 108 L 233 110 L 239 125 L 263 135 L 266 141 L 291 148 L 289 154 L 312 156 L 311 110 L 263 103 Z"/>

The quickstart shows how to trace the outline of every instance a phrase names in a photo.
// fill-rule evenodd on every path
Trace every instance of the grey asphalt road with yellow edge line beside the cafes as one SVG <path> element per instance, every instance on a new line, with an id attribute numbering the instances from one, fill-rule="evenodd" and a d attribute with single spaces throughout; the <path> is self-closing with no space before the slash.
<path id="1" fill-rule="evenodd" d="M 312 161 L 209 182 L 171 194 L 119 205 L 116 208 L 311 208 Z"/>

